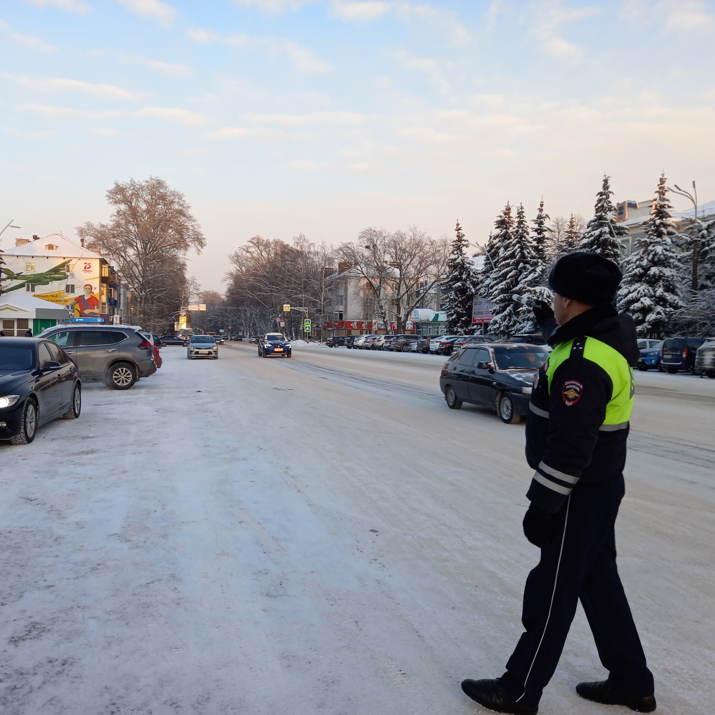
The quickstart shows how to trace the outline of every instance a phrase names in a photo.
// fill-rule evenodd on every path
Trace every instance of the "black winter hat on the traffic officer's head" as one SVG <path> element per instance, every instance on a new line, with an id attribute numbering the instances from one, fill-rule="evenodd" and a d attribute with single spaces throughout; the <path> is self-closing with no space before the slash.
<path id="1" fill-rule="evenodd" d="M 608 258 L 578 251 L 556 261 L 548 276 L 548 287 L 586 305 L 608 305 L 616 300 L 622 277 L 621 269 Z"/>

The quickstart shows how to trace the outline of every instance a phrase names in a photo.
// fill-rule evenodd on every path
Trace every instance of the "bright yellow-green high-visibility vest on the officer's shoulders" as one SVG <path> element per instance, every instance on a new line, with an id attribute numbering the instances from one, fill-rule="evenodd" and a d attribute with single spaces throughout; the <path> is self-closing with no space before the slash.
<path id="1" fill-rule="evenodd" d="M 573 354 L 573 355 L 572 355 Z M 595 337 L 577 337 L 567 342 L 561 342 L 554 347 L 548 356 L 548 391 L 551 394 L 551 380 L 564 360 L 570 357 L 579 357 L 582 360 L 591 360 L 599 368 L 608 373 L 613 383 L 611 400 L 606 405 L 606 420 L 599 428 L 603 432 L 622 430 L 628 426 L 633 410 L 633 395 L 636 393 L 636 381 L 633 378 L 633 368 L 628 365 L 628 360 L 618 350 L 606 345 Z"/>

